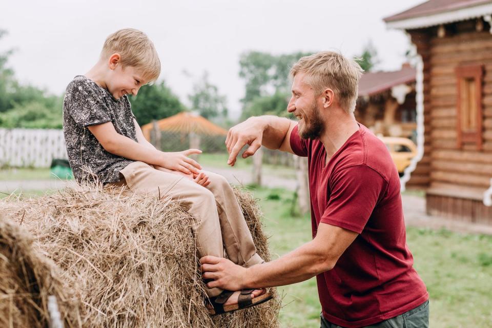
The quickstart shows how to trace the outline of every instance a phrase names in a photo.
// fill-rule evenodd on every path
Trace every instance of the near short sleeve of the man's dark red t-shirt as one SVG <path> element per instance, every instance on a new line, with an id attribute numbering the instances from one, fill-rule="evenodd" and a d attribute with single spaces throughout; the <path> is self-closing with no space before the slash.
<path id="1" fill-rule="evenodd" d="M 330 182 L 330 199 L 320 222 L 360 234 L 386 186 L 386 180 L 366 165 L 340 170 Z"/>

